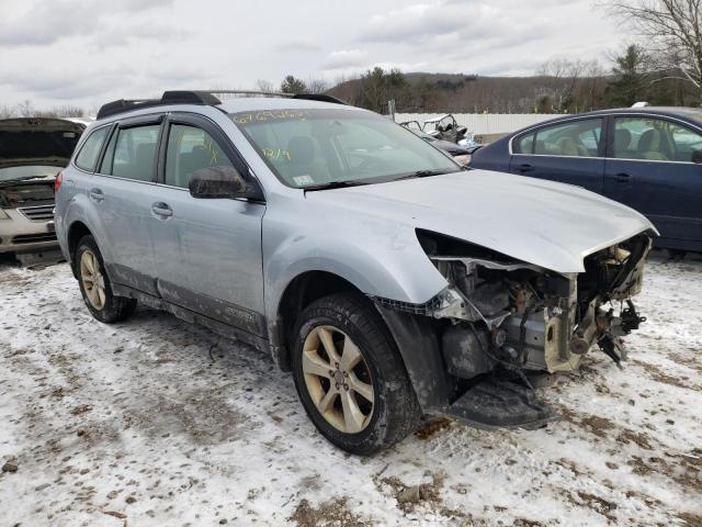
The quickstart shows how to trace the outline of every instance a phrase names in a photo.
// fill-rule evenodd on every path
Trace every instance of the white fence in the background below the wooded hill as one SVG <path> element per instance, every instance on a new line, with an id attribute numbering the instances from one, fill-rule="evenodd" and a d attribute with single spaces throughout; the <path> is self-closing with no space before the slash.
<path id="1" fill-rule="evenodd" d="M 439 117 L 440 113 L 396 113 L 395 121 L 419 121 Z M 551 113 L 454 113 L 456 122 L 476 135 L 508 134 L 516 130 L 557 117 Z"/>

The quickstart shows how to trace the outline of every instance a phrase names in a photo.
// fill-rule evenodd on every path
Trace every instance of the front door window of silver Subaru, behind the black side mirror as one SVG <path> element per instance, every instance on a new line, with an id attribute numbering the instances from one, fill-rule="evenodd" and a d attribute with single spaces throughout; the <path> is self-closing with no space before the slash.
<path id="1" fill-rule="evenodd" d="M 186 189 L 194 171 L 231 166 L 233 162 L 207 132 L 185 124 L 171 125 L 166 150 L 166 184 Z"/>

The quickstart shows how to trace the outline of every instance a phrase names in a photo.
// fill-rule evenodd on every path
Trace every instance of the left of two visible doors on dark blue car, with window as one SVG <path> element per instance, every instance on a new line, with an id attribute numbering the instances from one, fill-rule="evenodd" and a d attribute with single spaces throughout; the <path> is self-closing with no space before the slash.
<path id="1" fill-rule="evenodd" d="M 518 135 L 511 142 L 509 171 L 602 193 L 603 122 L 602 117 L 577 119 Z"/>

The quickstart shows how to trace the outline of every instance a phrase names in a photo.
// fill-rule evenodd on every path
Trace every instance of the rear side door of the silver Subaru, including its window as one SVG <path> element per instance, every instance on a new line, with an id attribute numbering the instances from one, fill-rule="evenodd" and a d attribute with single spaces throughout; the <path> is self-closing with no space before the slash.
<path id="1" fill-rule="evenodd" d="M 102 162 L 88 183 L 110 277 L 150 294 L 156 294 L 156 264 L 149 225 L 162 120 L 162 114 L 156 114 L 115 126 Z"/>

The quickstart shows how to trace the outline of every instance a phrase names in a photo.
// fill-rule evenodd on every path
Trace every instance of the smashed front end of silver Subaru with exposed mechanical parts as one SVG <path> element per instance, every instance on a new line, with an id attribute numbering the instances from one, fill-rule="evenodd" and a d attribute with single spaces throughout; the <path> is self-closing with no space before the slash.
<path id="1" fill-rule="evenodd" d="M 424 307 L 456 390 L 445 413 L 480 427 L 534 427 L 555 418 L 533 386 L 573 371 L 596 345 L 618 366 L 622 337 L 645 321 L 642 289 L 650 236 L 638 234 L 557 273 L 435 233 L 419 242 L 449 285 Z"/>

